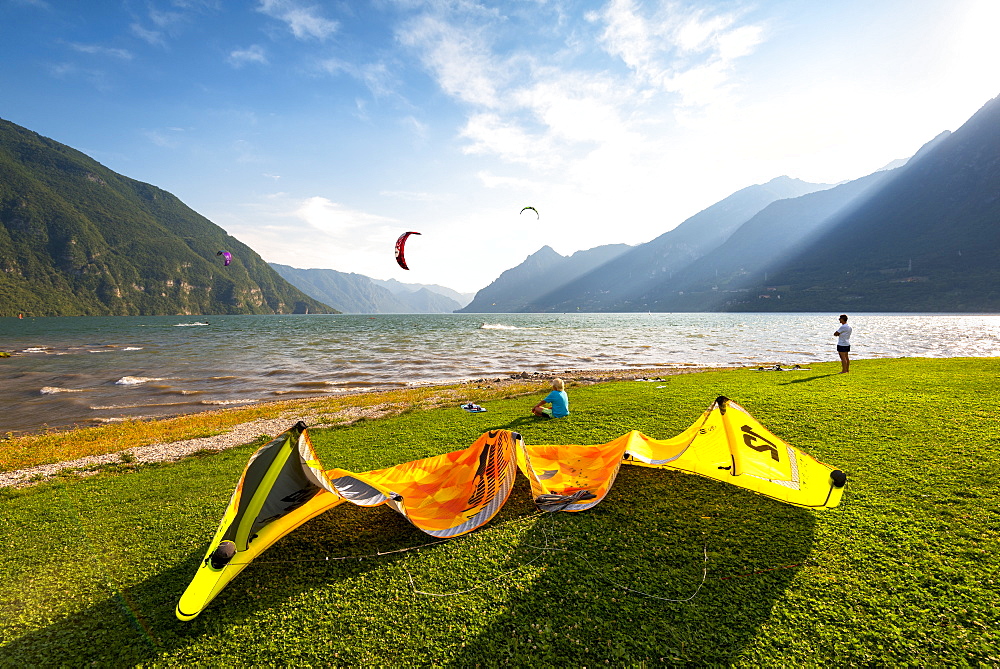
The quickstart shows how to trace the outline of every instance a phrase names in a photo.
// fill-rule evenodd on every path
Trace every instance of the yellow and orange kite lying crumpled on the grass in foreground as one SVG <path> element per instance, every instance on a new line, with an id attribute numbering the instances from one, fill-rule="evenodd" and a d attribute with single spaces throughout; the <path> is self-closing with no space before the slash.
<path id="1" fill-rule="evenodd" d="M 847 481 L 722 396 L 671 439 L 633 430 L 606 444 L 527 445 L 498 429 L 459 451 L 361 473 L 324 469 L 300 421 L 251 456 L 177 617 L 197 616 L 275 541 L 344 502 L 385 504 L 447 539 L 489 522 L 518 471 L 540 511 L 578 512 L 607 496 L 622 464 L 697 474 L 806 508 L 837 506 Z"/>

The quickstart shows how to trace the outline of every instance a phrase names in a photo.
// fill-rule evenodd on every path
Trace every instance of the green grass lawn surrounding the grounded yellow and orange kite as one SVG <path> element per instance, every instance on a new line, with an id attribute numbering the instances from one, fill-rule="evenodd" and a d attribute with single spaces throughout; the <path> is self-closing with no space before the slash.
<path id="1" fill-rule="evenodd" d="M 596 508 L 540 515 L 522 478 L 486 527 L 402 552 L 434 540 L 345 504 L 188 623 L 174 606 L 259 443 L 0 489 L 0 666 L 1000 663 L 1000 359 L 838 369 L 570 387 L 556 421 L 527 415 L 540 392 L 311 431 L 324 465 L 364 471 L 498 427 L 671 437 L 726 395 L 848 487 L 810 511 L 624 466 Z"/>

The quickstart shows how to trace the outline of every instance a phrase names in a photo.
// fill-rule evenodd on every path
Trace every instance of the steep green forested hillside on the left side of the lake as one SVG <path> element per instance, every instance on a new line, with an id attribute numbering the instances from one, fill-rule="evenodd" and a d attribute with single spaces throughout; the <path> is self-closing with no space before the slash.
<path id="1" fill-rule="evenodd" d="M 0 316 L 307 312 L 335 310 L 174 195 L 0 119 Z"/>

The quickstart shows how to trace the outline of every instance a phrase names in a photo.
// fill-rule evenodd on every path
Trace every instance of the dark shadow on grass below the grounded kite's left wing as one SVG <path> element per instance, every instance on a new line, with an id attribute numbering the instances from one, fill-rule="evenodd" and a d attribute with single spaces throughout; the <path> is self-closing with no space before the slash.
<path id="1" fill-rule="evenodd" d="M 390 509 L 342 505 L 282 538 L 193 621 L 177 620 L 174 609 L 204 549 L 189 553 L 176 566 L 4 644 L 0 647 L 0 667 L 130 666 L 183 654 L 185 647 L 203 637 L 224 637 L 232 627 L 277 609 L 298 593 L 353 579 L 401 559 L 371 557 L 380 551 L 432 541 L 433 537 Z M 317 556 L 367 557 L 326 561 Z M 100 583 L 100 576 L 92 578 L 95 587 L 108 591 Z M 266 623 L 261 624 L 266 627 Z"/>

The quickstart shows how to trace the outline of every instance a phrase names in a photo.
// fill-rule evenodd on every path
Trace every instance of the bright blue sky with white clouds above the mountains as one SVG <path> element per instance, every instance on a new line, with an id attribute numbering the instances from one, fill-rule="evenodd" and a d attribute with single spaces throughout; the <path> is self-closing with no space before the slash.
<path id="1" fill-rule="evenodd" d="M 471 293 L 911 156 L 1000 95 L 997 25 L 1000 0 L 0 0 L 0 118 L 269 262 Z"/>

